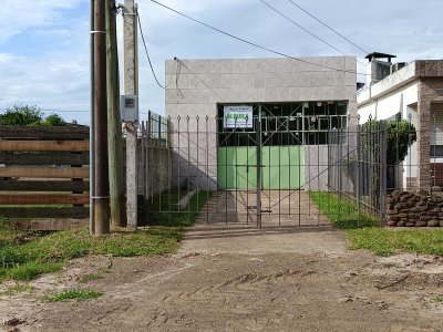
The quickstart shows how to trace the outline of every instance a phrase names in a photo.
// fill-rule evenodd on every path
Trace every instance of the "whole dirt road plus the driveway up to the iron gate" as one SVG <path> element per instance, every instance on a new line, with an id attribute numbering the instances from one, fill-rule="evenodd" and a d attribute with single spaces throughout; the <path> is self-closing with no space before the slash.
<path id="1" fill-rule="evenodd" d="M 177 255 L 79 259 L 33 287 L 1 295 L 16 331 L 443 331 L 443 259 L 348 251 L 326 228 L 197 226 Z M 104 295 L 41 300 L 70 288 Z"/>

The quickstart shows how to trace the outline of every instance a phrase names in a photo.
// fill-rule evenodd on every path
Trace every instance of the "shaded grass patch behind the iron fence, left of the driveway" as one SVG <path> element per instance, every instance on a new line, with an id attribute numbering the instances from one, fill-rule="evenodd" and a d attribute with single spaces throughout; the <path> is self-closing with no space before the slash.
<path id="1" fill-rule="evenodd" d="M 189 227 L 193 226 L 199 215 L 199 210 L 206 200 L 213 195 L 212 191 L 199 190 L 195 194 L 187 207 L 178 210 L 177 203 L 188 190 L 171 190 L 156 195 L 148 201 L 148 210 L 152 211 L 153 225 Z"/>

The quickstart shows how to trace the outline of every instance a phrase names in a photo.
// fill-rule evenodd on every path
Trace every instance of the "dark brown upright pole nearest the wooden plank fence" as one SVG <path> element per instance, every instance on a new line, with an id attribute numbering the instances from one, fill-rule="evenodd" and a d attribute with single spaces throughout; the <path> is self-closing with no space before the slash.
<path id="1" fill-rule="evenodd" d="M 95 236 L 110 232 L 110 183 L 107 169 L 106 27 L 105 2 L 94 1 L 94 151 L 95 151 Z"/>

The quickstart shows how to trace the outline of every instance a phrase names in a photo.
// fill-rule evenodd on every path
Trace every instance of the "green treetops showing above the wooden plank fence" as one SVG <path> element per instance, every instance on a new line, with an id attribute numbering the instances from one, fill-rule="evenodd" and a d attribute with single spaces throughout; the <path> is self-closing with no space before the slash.
<path id="1" fill-rule="evenodd" d="M 21 126 L 63 126 L 66 122 L 58 114 L 44 118 L 44 113 L 37 106 L 13 106 L 0 114 L 0 124 Z"/>

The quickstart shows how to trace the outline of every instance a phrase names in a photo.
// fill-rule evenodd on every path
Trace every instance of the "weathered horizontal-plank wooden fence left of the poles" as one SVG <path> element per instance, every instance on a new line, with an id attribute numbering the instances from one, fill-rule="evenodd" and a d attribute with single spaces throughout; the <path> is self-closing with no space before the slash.
<path id="1" fill-rule="evenodd" d="M 86 126 L 0 125 L 0 216 L 31 229 L 87 225 L 89 136 Z"/>

